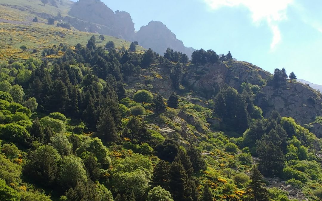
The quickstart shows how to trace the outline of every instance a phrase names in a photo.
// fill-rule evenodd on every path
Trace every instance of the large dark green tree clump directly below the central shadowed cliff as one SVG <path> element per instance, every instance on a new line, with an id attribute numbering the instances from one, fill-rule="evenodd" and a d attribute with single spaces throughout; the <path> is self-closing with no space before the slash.
<path id="1" fill-rule="evenodd" d="M 223 87 L 215 97 L 214 113 L 223 119 L 225 129 L 243 133 L 247 127 L 247 111 L 242 96 L 232 87 Z"/>

